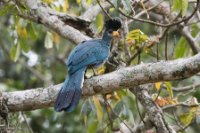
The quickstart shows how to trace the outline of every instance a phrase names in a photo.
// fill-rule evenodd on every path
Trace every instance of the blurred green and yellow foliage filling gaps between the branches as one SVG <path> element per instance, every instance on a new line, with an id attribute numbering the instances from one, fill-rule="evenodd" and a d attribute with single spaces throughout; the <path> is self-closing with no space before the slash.
<path id="1" fill-rule="evenodd" d="M 80 0 L 43 0 L 43 2 L 47 3 L 54 10 L 77 16 L 85 11 L 82 5 L 83 2 Z M 85 2 L 88 7 L 92 4 L 96 4 L 96 1 L 93 0 L 86 0 Z M 123 5 L 123 10 L 126 11 L 127 14 L 131 12 L 129 2 L 129 0 L 125 0 L 122 3 L 118 1 L 118 4 L 120 3 Z M 180 2 L 180 0 L 178 2 Z M 175 2 L 175 0 L 170 1 L 173 12 L 181 12 L 182 16 L 185 16 L 187 12 L 192 11 L 192 7 L 187 5 L 187 0 L 186 3 L 180 4 L 178 2 Z M 20 10 L 23 11 L 21 8 Z M 16 91 L 41 86 L 45 87 L 63 82 L 66 76 L 64 61 L 76 44 L 63 39 L 57 33 L 50 31 L 40 24 L 35 24 L 29 20 L 20 18 L 17 16 L 17 12 L 17 9 L 9 4 L 0 9 L 0 88 L 4 88 L 4 91 Z M 110 9 L 110 12 L 112 16 L 120 15 L 119 12 L 113 8 Z M 145 15 L 143 17 L 145 17 Z M 91 26 L 96 33 L 96 37 L 101 36 L 105 18 L 106 16 L 100 13 L 92 21 Z M 158 26 L 152 26 L 141 22 L 132 22 L 129 24 L 129 29 L 130 31 L 140 29 L 140 31 L 136 33 L 135 38 L 131 37 L 131 39 L 135 40 L 137 37 L 144 37 L 138 34 L 140 32 L 141 34 L 144 33 L 147 38 L 151 38 L 160 32 Z M 191 24 L 190 32 L 193 37 L 197 36 L 199 31 L 199 23 Z M 193 55 L 186 39 L 182 37 L 177 28 L 170 29 L 168 38 L 167 56 L 169 60 Z M 120 44 L 122 44 L 123 47 L 123 41 L 121 41 Z M 142 44 L 144 44 L 144 42 L 139 41 L 134 44 L 134 46 L 130 46 L 131 52 L 135 53 L 135 51 L 137 51 L 137 45 L 140 47 Z M 159 42 L 158 51 L 160 60 L 166 59 L 165 44 L 165 39 Z M 143 50 L 140 60 L 144 63 L 156 62 L 156 49 L 156 44 L 154 44 L 151 48 Z M 123 58 L 125 58 L 124 55 Z M 136 65 L 137 62 L 138 60 L 135 58 L 131 64 Z M 104 71 L 104 69 L 104 67 L 100 68 L 99 71 Z M 87 74 L 91 75 L 91 72 L 88 71 Z M 169 93 L 172 87 L 197 83 L 199 83 L 199 75 L 181 81 L 156 83 L 151 91 L 156 95 L 160 88 L 167 86 L 168 91 L 164 89 L 160 94 L 162 98 L 173 95 L 174 99 L 178 99 L 177 102 L 190 101 L 194 97 L 199 100 L 199 91 L 181 95 L 179 93 Z M 133 126 L 140 121 L 140 116 L 138 115 L 136 107 L 136 99 L 128 90 L 120 90 L 109 94 L 107 100 L 118 114 L 118 116 L 116 116 L 111 112 L 114 127 L 119 127 L 120 124 L 122 124 L 122 120 L 126 121 L 129 126 Z M 162 99 L 161 102 L 163 102 Z M 167 102 L 173 104 L 172 99 Z M 145 111 L 140 104 L 139 108 L 143 116 Z M 30 132 L 28 129 L 29 126 L 33 132 L 36 133 L 112 132 L 105 110 L 102 96 L 99 95 L 81 100 L 78 108 L 72 113 L 56 113 L 52 108 L 24 113 L 18 112 L 9 114 L 9 122 L 18 133 Z M 193 108 L 193 110 L 197 111 L 198 109 Z M 198 132 L 200 122 L 199 114 L 195 114 L 195 116 L 190 115 L 192 109 L 184 107 L 180 107 L 176 111 L 177 117 L 182 119 L 180 121 L 182 121 L 183 124 L 191 125 L 187 129 L 187 132 Z M 192 112 L 192 114 L 194 113 Z M 118 117 L 120 117 L 120 119 Z M 176 123 L 172 114 L 166 113 L 165 117 L 170 123 Z M 29 126 L 27 126 L 26 120 Z"/>

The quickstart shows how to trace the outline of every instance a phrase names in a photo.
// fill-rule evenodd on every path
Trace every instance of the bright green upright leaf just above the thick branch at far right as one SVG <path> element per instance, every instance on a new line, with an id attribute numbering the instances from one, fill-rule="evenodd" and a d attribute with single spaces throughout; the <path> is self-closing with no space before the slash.
<path id="1" fill-rule="evenodd" d="M 175 47 L 175 58 L 182 58 L 185 55 L 187 48 L 187 41 L 184 37 L 181 37 Z"/>

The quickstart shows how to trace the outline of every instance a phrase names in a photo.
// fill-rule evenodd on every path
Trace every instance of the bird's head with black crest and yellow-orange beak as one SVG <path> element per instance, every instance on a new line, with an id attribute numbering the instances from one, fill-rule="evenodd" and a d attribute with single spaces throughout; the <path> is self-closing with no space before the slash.
<path id="1" fill-rule="evenodd" d="M 119 37 L 118 29 L 121 28 L 121 20 L 118 18 L 109 19 L 105 23 L 105 35 L 107 37 Z"/>

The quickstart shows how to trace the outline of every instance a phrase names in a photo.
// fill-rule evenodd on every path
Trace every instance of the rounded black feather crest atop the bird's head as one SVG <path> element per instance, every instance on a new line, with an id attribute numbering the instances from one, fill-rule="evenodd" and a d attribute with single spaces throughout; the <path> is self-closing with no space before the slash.
<path id="1" fill-rule="evenodd" d="M 117 31 L 122 26 L 121 20 L 119 18 L 109 19 L 105 23 L 106 29 L 112 29 Z"/>

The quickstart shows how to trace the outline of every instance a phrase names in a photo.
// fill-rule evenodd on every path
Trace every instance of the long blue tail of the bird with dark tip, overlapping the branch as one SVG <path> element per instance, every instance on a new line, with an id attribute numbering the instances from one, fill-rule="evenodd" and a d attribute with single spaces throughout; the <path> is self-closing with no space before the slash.
<path id="1" fill-rule="evenodd" d="M 67 76 L 54 105 L 56 111 L 71 112 L 76 108 L 81 98 L 81 87 L 84 81 L 85 70 L 86 68 L 82 68 Z"/>

